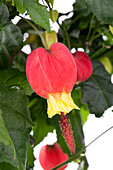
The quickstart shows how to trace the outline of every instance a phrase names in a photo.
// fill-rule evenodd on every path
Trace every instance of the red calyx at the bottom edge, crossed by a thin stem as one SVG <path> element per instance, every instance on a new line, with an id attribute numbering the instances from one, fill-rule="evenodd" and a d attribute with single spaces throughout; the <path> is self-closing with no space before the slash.
<path id="1" fill-rule="evenodd" d="M 62 151 L 60 145 L 57 143 L 43 146 L 39 153 L 39 162 L 44 170 L 51 170 L 55 166 L 68 160 L 68 158 L 68 155 Z M 64 170 L 66 167 L 67 165 L 64 165 L 58 170 Z"/>

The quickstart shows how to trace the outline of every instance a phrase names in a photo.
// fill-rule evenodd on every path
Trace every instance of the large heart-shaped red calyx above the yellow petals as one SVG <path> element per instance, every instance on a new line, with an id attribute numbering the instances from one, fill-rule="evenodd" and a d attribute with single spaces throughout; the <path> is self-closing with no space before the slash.
<path id="1" fill-rule="evenodd" d="M 49 51 L 39 47 L 27 58 L 26 75 L 32 89 L 41 97 L 48 93 L 69 93 L 77 77 L 77 68 L 69 49 L 62 43 L 54 43 Z"/>

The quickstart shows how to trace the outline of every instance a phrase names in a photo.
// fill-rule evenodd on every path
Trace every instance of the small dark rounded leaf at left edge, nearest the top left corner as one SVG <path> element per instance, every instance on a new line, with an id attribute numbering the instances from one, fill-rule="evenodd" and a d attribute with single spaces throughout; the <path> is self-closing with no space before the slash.
<path id="1" fill-rule="evenodd" d="M 3 26 L 9 18 L 9 11 L 6 5 L 0 5 L 0 27 Z"/>

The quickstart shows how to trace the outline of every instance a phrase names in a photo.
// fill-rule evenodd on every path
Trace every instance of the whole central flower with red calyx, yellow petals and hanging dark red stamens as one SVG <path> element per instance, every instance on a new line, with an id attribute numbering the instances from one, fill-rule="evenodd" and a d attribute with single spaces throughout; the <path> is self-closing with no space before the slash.
<path id="1" fill-rule="evenodd" d="M 77 79 L 76 63 L 71 52 L 62 43 L 52 44 L 49 50 L 43 47 L 33 50 L 27 58 L 26 75 L 32 89 L 47 99 L 49 118 L 61 112 L 65 117 L 72 109 L 79 109 L 71 98 L 71 90 Z M 61 130 L 64 120 L 67 121 L 67 129 L 70 129 L 70 122 L 63 118 Z M 62 130 L 63 136 L 70 147 L 69 142 L 74 141 L 72 131 L 66 132 L 69 132 L 67 138 L 64 135 L 65 130 Z M 68 141 L 69 135 L 73 139 Z"/>

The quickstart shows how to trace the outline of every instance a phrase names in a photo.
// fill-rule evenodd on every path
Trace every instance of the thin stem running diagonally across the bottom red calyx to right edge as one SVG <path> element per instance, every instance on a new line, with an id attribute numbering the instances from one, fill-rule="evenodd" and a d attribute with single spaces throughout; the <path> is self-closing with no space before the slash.
<path id="1" fill-rule="evenodd" d="M 56 170 L 64 165 L 66 165 L 69 162 L 72 162 L 76 159 L 78 159 L 79 157 L 81 157 L 81 154 L 86 150 L 87 147 L 89 147 L 92 143 L 94 143 L 97 139 L 99 139 L 101 136 L 103 136 L 105 133 L 107 133 L 109 130 L 111 130 L 113 128 L 113 126 L 111 126 L 110 128 L 108 128 L 107 130 L 105 130 L 103 133 L 101 133 L 99 136 L 97 136 L 93 141 L 91 141 L 87 146 L 85 146 L 84 148 L 82 148 L 76 155 L 71 156 L 67 161 L 63 162 L 62 164 L 56 166 L 55 168 L 53 168 L 52 170 Z"/>

